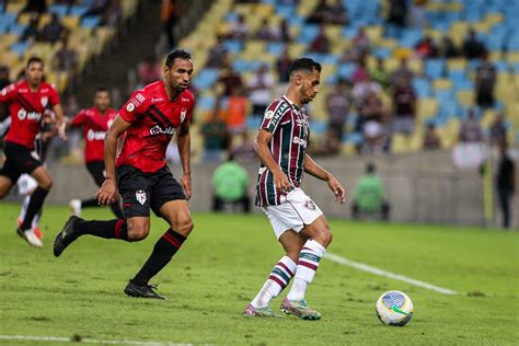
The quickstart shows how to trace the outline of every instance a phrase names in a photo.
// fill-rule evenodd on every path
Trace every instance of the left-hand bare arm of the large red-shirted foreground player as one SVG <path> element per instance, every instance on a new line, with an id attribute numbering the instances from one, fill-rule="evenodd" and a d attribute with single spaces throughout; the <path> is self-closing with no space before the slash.
<path id="1" fill-rule="evenodd" d="M 117 116 L 108 128 L 104 140 L 104 164 L 106 170 L 106 178 L 97 192 L 97 203 L 100 205 L 108 205 L 115 200 L 117 195 L 117 187 L 115 185 L 115 153 L 117 152 L 117 139 L 129 127 L 120 116 Z"/>

